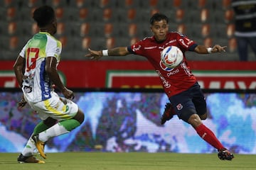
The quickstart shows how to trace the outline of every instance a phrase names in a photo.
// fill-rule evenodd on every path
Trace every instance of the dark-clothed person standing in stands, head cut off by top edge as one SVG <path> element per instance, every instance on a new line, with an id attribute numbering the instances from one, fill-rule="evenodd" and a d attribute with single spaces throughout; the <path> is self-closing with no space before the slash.
<path id="1" fill-rule="evenodd" d="M 249 45 L 256 57 L 256 1 L 233 0 L 232 7 L 239 59 L 247 61 Z"/>

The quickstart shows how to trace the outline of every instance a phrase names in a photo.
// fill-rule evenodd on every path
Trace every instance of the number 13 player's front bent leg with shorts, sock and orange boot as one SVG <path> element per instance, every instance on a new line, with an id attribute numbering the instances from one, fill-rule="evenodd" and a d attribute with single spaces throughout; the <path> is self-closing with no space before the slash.
<path id="1" fill-rule="evenodd" d="M 43 124 L 46 123 L 49 126 L 54 124 L 43 132 L 33 135 L 38 152 L 41 157 L 46 159 L 44 146 L 48 139 L 77 128 L 83 122 L 84 115 L 76 103 L 67 98 L 60 98 L 55 93 L 53 93 L 52 98 L 36 103 L 34 108 L 38 111 L 40 118 L 45 120 Z M 59 123 L 55 124 L 55 120 L 58 120 Z"/>

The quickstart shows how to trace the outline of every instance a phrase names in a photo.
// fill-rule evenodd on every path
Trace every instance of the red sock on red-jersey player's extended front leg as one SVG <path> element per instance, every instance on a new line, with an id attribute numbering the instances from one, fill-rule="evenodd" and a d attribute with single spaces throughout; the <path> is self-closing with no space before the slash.
<path id="1" fill-rule="evenodd" d="M 217 139 L 217 137 L 214 135 L 214 133 L 208 129 L 205 125 L 201 124 L 198 127 L 195 128 L 198 135 L 208 142 L 208 144 L 212 145 L 216 149 L 223 149 L 223 145 L 220 143 L 220 141 Z"/>

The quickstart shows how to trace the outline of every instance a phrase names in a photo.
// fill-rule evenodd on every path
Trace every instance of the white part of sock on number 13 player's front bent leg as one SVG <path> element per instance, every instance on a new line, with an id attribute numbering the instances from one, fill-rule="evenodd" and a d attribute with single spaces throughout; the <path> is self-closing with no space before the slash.
<path id="1" fill-rule="evenodd" d="M 48 141 L 48 139 L 50 139 L 50 137 L 63 135 L 68 132 L 70 132 L 70 131 L 66 130 L 63 127 L 63 125 L 60 125 L 60 123 L 57 123 L 57 124 L 53 125 L 52 127 L 50 127 L 49 129 L 39 133 L 38 138 L 42 142 L 46 142 L 46 141 Z"/>

